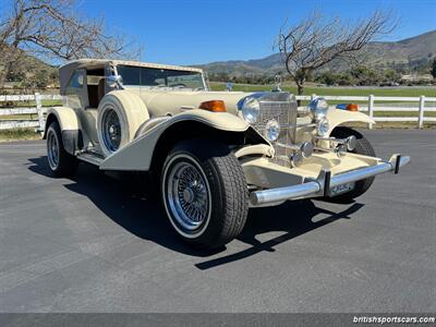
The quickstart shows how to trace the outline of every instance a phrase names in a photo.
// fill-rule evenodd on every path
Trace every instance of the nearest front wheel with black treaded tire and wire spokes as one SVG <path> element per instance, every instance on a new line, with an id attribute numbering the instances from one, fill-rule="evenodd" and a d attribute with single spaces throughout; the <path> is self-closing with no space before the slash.
<path id="1" fill-rule="evenodd" d="M 160 190 L 172 227 L 190 244 L 222 246 L 245 225 L 245 175 L 226 144 L 196 138 L 177 143 L 161 168 Z"/>

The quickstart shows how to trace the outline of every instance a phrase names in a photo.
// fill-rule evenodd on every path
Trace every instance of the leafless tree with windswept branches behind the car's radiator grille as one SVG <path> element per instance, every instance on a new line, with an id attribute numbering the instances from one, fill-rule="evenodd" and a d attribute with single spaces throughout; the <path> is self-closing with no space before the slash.
<path id="1" fill-rule="evenodd" d="M 382 10 L 353 24 L 343 23 L 339 17 L 326 20 L 315 11 L 295 25 L 284 24 L 275 46 L 298 93 L 303 94 L 307 76 L 316 69 L 335 59 L 356 60 L 366 44 L 391 33 L 397 25 L 393 14 Z"/>

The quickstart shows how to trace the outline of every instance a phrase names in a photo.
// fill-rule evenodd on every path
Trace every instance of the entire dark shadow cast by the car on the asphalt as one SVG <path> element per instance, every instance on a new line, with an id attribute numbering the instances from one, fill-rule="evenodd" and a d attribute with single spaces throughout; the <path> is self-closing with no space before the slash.
<path id="1" fill-rule="evenodd" d="M 35 173 L 53 178 L 46 157 L 29 159 L 28 169 Z M 161 246 L 197 257 L 208 257 L 226 250 L 226 246 L 214 251 L 196 250 L 183 243 L 168 221 L 159 204 L 158 194 L 150 187 L 144 186 L 143 175 L 129 179 L 114 179 L 101 172 L 97 167 L 81 164 L 75 175 L 69 179 L 73 183 L 64 187 L 88 197 L 112 221 L 132 234 L 155 242 Z M 287 242 L 316 228 L 334 222 L 359 210 L 363 204 L 353 203 L 350 206 L 338 206 L 343 210 L 327 210 L 317 207 L 310 199 L 287 202 L 277 207 L 251 209 L 243 232 L 238 240 L 251 245 L 250 247 L 223 257 L 214 258 L 196 264 L 199 269 L 209 269 L 230 262 L 240 261 L 259 252 L 274 252 L 274 246 Z M 319 221 L 314 217 L 328 215 Z M 261 242 L 257 235 L 280 231 L 283 234 Z"/>

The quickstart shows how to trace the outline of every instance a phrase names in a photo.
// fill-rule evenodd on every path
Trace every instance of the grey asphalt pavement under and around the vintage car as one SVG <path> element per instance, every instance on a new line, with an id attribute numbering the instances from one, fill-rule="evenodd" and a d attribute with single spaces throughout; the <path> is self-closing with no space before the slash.
<path id="1" fill-rule="evenodd" d="M 435 312 L 436 131 L 366 133 L 412 164 L 354 204 L 252 210 L 215 253 L 93 167 L 53 179 L 43 142 L 0 144 L 0 312 Z"/>

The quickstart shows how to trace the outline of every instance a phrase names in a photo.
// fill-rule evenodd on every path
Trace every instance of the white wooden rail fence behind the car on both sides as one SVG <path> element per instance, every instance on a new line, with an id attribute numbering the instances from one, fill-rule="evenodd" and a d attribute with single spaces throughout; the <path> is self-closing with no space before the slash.
<path id="1" fill-rule="evenodd" d="M 316 95 L 296 96 L 299 100 L 311 100 Z M 425 117 L 425 112 L 436 112 L 436 97 L 379 97 L 379 96 L 325 96 L 326 100 L 360 102 L 359 110 L 367 112 L 375 121 L 396 121 L 396 122 L 416 122 L 419 129 L 423 128 L 424 122 L 436 123 L 436 117 Z M 0 95 L 0 102 L 34 102 L 34 106 L 28 107 L 3 107 L 0 108 L 0 130 L 35 128 L 35 131 L 41 131 L 45 126 L 45 113 L 48 107 L 43 106 L 43 100 L 61 100 L 60 95 Z M 364 104 L 361 104 L 364 102 Z M 382 102 L 382 106 L 376 106 L 376 102 Z M 399 106 L 388 106 L 396 104 Z M 432 104 L 427 106 L 426 104 Z M 374 117 L 375 111 L 385 112 L 417 112 L 416 117 Z M 35 114 L 35 119 L 1 119 L 2 116 L 20 116 Z M 373 124 L 368 124 L 372 129 Z"/>

